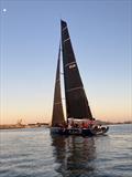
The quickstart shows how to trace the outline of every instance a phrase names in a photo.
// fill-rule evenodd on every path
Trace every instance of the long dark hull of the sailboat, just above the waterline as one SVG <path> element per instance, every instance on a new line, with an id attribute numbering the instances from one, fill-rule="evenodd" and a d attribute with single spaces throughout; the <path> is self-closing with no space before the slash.
<path id="1" fill-rule="evenodd" d="M 103 135 L 108 132 L 109 127 L 101 127 L 98 129 L 94 128 L 61 128 L 61 127 L 52 127 L 51 134 L 56 135 L 80 135 L 80 136 L 97 136 Z"/>

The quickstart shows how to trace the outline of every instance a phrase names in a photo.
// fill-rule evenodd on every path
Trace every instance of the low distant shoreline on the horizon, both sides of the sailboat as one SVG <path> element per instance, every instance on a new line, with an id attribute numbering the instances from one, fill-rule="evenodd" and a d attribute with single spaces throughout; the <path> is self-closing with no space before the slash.
<path id="1" fill-rule="evenodd" d="M 102 125 L 118 125 L 118 124 L 132 124 L 132 122 L 128 121 L 128 122 L 122 122 L 122 123 L 110 123 L 110 122 L 100 122 L 98 121 L 99 124 L 102 124 Z M 3 124 L 3 125 L 0 125 L 0 129 L 18 129 L 18 128 L 37 128 L 37 127 L 50 127 L 50 124 L 48 123 L 36 123 L 36 124 L 28 124 L 28 125 L 24 125 L 24 124 L 21 124 L 21 125 L 18 125 L 18 124 Z"/>

